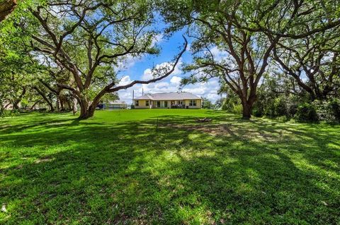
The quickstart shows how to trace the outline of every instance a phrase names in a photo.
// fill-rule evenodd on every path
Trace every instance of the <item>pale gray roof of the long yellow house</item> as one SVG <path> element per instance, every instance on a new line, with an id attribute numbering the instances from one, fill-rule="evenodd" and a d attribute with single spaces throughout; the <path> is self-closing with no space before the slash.
<path id="1" fill-rule="evenodd" d="M 134 100 L 190 100 L 190 99 L 200 99 L 200 97 L 193 95 L 188 92 L 169 92 L 169 93 L 156 93 L 147 94 L 141 97 L 135 97 Z"/>

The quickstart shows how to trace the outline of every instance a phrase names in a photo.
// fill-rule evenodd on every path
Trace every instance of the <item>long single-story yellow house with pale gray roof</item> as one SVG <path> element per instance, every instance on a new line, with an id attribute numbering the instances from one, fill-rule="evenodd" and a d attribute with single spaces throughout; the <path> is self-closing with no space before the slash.
<path id="1" fill-rule="evenodd" d="M 200 109 L 202 99 L 188 92 L 147 94 L 133 100 L 135 109 Z"/>

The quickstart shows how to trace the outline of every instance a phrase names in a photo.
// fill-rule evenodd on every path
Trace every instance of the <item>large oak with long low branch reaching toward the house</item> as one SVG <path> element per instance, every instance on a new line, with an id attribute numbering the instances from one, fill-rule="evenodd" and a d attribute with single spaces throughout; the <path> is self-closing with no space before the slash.
<path id="1" fill-rule="evenodd" d="M 154 13 L 149 1 L 50 0 L 28 8 L 25 20 L 23 29 L 32 24 L 38 27 L 30 30 L 35 54 L 48 56 L 56 67 L 72 74 L 72 84 L 57 85 L 77 98 L 82 119 L 94 115 L 103 95 L 170 75 L 186 49 L 184 44 L 174 63 L 157 70 L 153 79 L 118 86 L 116 70 L 127 56 L 158 53 L 153 44 L 157 32 L 152 28 Z"/>

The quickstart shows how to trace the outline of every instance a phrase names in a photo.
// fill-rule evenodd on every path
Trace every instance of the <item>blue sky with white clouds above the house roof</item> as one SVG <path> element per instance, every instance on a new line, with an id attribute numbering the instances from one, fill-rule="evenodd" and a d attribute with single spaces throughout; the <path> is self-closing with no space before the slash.
<path id="1" fill-rule="evenodd" d="M 144 56 L 141 59 L 126 59 L 120 68 L 119 78 L 120 84 L 128 84 L 132 80 L 148 80 L 152 78 L 151 69 L 154 66 L 161 65 L 163 63 L 171 62 L 174 57 L 179 54 L 180 47 L 183 46 L 183 32 L 176 32 L 170 38 L 164 38 L 159 35 L 154 42 L 160 47 L 161 52 L 158 56 Z M 160 80 L 157 83 L 149 85 L 135 85 L 128 90 L 120 90 L 118 95 L 120 100 L 123 100 L 130 104 L 132 102 L 132 90 L 135 90 L 135 97 L 142 95 L 142 89 L 144 93 L 156 93 L 156 92 L 177 92 L 179 91 L 179 84 L 181 78 L 185 74 L 181 71 L 181 63 L 190 63 L 192 61 L 190 52 L 190 40 L 189 49 L 183 54 L 179 66 L 177 66 L 174 73 L 169 75 L 168 78 Z M 215 102 L 220 98 L 217 95 L 219 84 L 217 79 L 209 80 L 208 83 L 197 83 L 194 85 L 186 85 L 182 88 L 182 91 L 191 92 L 199 97 L 207 97 L 212 102 Z"/>

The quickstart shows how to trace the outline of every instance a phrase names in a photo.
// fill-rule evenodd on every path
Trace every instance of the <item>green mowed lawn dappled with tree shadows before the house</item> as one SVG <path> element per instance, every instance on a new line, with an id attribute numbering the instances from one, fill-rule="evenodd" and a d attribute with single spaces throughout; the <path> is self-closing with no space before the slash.
<path id="1" fill-rule="evenodd" d="M 0 120 L 0 224 L 340 224 L 340 126 L 203 109 L 75 118 Z"/>

